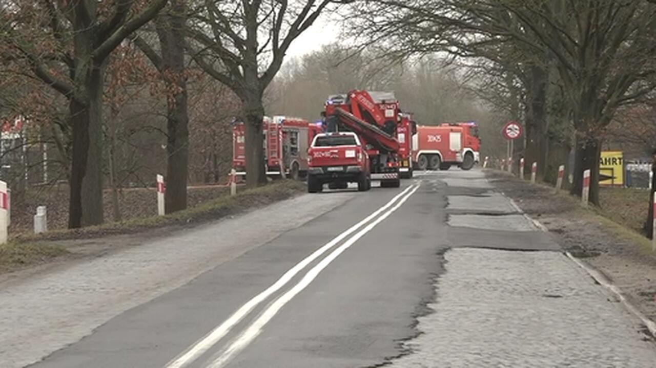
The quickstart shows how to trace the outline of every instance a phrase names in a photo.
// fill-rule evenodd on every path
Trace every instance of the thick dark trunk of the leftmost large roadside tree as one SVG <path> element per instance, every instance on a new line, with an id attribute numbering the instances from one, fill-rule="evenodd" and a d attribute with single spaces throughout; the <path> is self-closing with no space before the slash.
<path id="1" fill-rule="evenodd" d="M 89 71 L 86 101 L 69 103 L 73 126 L 68 227 L 102 223 L 102 66 Z"/>

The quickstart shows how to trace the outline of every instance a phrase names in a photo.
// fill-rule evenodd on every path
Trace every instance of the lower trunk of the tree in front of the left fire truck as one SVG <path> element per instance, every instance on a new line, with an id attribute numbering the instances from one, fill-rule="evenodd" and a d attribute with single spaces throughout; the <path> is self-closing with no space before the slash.
<path id="1" fill-rule="evenodd" d="M 249 188 L 266 184 L 264 167 L 264 147 L 262 137 L 262 119 L 264 107 L 262 99 L 244 101 L 245 112 L 245 151 L 246 151 L 246 185 Z"/>

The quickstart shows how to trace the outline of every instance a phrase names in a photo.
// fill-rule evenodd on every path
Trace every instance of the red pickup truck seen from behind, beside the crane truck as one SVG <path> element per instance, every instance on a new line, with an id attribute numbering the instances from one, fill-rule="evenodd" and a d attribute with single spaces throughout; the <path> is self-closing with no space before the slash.
<path id="1" fill-rule="evenodd" d="M 352 132 L 318 134 L 308 149 L 308 193 L 346 189 L 358 183 L 358 191 L 371 189 L 369 155 Z"/>

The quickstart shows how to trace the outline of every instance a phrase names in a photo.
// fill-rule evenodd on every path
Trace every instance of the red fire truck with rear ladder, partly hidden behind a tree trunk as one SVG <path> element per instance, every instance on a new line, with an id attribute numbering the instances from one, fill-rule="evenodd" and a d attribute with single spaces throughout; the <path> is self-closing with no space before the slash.
<path id="1" fill-rule="evenodd" d="M 298 179 L 308 172 L 308 147 L 321 126 L 307 120 L 274 116 L 264 117 L 264 162 L 266 175 Z M 232 167 L 237 175 L 246 175 L 245 134 L 243 122 L 232 128 Z"/>

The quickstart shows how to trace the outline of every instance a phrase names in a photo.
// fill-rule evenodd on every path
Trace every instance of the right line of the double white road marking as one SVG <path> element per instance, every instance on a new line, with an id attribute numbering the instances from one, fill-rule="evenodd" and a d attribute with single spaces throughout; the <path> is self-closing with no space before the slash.
<path id="1" fill-rule="evenodd" d="M 352 246 L 355 242 L 358 241 L 359 238 L 367 234 L 367 232 L 371 231 L 376 225 L 378 225 L 380 222 L 382 222 L 384 219 L 389 217 L 392 213 L 394 213 L 398 208 L 401 207 L 405 201 L 410 198 L 412 194 L 414 194 L 417 189 L 419 189 L 419 185 L 413 185 L 412 187 L 413 190 L 405 194 L 405 196 L 388 212 L 383 213 L 380 215 L 379 218 L 377 218 L 375 221 L 371 222 L 369 225 L 364 227 L 362 230 L 359 230 L 358 233 L 356 233 L 354 236 L 349 238 L 344 244 L 341 246 L 337 247 L 332 253 L 327 255 L 324 259 L 321 259 L 321 261 L 315 266 L 312 267 L 308 273 L 303 276 L 303 278 L 298 282 L 298 284 L 294 285 L 289 291 L 281 295 L 274 303 L 272 303 L 260 316 L 255 320 L 255 322 L 251 323 L 251 325 L 239 335 L 239 337 L 230 344 L 228 349 L 226 349 L 222 354 L 218 356 L 214 361 L 212 361 L 209 365 L 207 365 L 208 368 L 221 368 L 223 367 L 230 359 L 232 359 L 236 354 L 239 354 L 241 350 L 243 350 L 248 344 L 255 339 L 261 332 L 262 332 L 262 327 L 266 325 L 274 316 L 276 316 L 277 312 L 285 306 L 293 297 L 295 297 L 300 291 L 305 289 L 310 283 L 319 275 L 321 270 L 326 268 L 331 262 L 333 262 L 343 251 L 348 249 L 350 246 Z"/>

